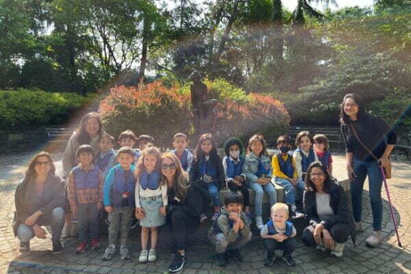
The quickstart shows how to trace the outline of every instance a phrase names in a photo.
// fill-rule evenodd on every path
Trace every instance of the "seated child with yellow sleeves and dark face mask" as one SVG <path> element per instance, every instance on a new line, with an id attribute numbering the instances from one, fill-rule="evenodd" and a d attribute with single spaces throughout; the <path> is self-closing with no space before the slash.
<path id="1" fill-rule="evenodd" d="M 295 206 L 296 197 L 301 197 L 300 192 L 305 188 L 305 184 L 301 179 L 297 178 L 297 169 L 295 168 L 295 161 L 288 151 L 291 147 L 291 138 L 288 135 L 279 136 L 277 139 L 277 149 L 279 153 L 273 155 L 271 165 L 273 166 L 273 176 L 275 176 L 275 183 L 285 189 L 286 204 L 290 206 L 292 216 L 302 217 L 303 214 L 296 212 Z"/>

